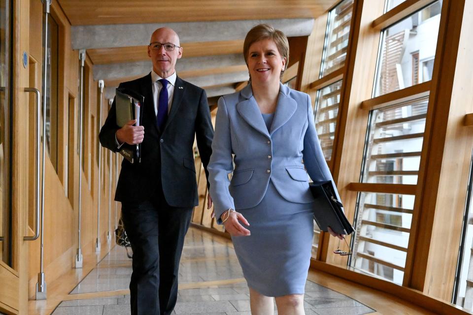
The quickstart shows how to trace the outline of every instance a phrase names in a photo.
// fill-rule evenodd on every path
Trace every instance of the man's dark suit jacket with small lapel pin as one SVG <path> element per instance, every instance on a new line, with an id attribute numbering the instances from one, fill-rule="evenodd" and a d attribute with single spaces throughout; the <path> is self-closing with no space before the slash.
<path id="1" fill-rule="evenodd" d="M 213 126 L 205 91 L 176 78 L 168 119 L 163 130 L 156 124 L 151 73 L 129 82 L 120 83 L 144 96 L 141 125 L 141 162 L 123 159 L 115 200 L 141 202 L 163 187 L 166 202 L 173 207 L 194 207 L 199 203 L 194 166 L 194 137 L 208 178 L 207 164 L 212 153 Z M 99 139 L 103 147 L 117 152 L 115 132 L 115 101 L 102 126 Z M 161 183 L 160 183 L 161 182 Z"/>

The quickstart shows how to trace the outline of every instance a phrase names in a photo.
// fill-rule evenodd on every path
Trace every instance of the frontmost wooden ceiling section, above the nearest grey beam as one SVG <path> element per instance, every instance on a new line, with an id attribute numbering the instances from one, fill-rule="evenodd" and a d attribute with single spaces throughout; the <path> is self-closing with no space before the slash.
<path id="1" fill-rule="evenodd" d="M 58 0 L 71 25 L 317 17 L 338 0 Z"/>

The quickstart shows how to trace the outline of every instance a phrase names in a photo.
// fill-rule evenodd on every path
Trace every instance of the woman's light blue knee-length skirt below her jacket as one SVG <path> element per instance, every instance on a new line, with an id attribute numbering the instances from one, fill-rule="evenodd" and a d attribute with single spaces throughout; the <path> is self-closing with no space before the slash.
<path id="1" fill-rule="evenodd" d="M 266 296 L 304 294 L 314 234 L 313 204 L 285 200 L 270 182 L 253 208 L 236 209 L 250 236 L 232 237 L 248 286 Z"/>

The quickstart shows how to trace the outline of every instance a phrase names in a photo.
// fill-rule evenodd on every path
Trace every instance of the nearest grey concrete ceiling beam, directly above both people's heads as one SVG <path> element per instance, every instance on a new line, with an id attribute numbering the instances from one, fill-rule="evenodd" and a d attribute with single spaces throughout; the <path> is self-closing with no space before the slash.
<path id="1" fill-rule="evenodd" d="M 268 23 L 286 36 L 307 36 L 314 19 L 240 20 L 188 23 L 150 23 L 80 25 L 71 27 L 72 49 L 98 49 L 149 44 L 151 33 L 169 27 L 179 34 L 180 42 L 207 42 L 244 39 L 255 25 Z"/>

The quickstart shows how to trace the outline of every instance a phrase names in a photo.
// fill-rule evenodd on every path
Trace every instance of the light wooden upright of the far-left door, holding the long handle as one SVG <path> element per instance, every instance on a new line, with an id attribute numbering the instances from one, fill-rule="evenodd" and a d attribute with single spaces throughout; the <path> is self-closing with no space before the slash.
<path id="1" fill-rule="evenodd" d="M 23 240 L 29 234 L 29 124 L 28 113 L 29 98 L 33 95 L 24 93 L 24 87 L 29 86 L 29 68 L 23 66 L 22 53 L 30 49 L 30 4 L 29 0 L 10 1 L 14 10 L 14 31 L 13 31 L 13 165 L 12 170 L 12 205 L 13 205 L 13 267 L 18 272 L 19 280 L 15 282 L 2 283 L 1 286 L 18 285 L 15 298 L 18 301 L 18 313 L 28 313 L 28 244 Z M 15 222 L 16 221 L 16 222 Z M 16 239 L 16 240 L 15 240 Z M 5 287 L 5 289 L 7 289 Z"/>

